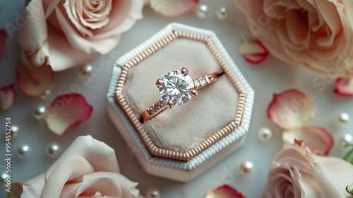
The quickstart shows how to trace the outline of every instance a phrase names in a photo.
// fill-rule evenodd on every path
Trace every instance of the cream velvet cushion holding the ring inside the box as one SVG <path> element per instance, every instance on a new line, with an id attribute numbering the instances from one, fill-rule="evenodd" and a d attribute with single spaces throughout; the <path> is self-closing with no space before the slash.
<path id="1" fill-rule="evenodd" d="M 138 117 L 160 99 L 155 86 L 157 78 L 182 67 L 189 69 L 193 79 L 222 71 L 203 42 L 173 40 L 128 71 L 123 95 Z M 214 83 L 199 89 L 197 98 L 172 110 L 164 110 L 143 126 L 156 146 L 186 152 L 234 121 L 238 100 L 237 89 L 227 75 L 222 75 Z"/>

